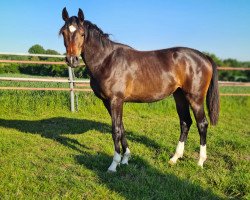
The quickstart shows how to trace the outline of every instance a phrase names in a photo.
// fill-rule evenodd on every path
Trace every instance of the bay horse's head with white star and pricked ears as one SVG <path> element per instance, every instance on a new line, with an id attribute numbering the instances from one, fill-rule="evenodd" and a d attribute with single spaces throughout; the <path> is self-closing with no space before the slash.
<path id="1" fill-rule="evenodd" d="M 69 17 L 66 8 L 62 11 L 62 18 L 65 21 L 64 26 L 60 30 L 63 35 L 64 45 L 66 47 L 66 62 L 71 67 L 79 65 L 79 56 L 84 46 L 84 14 L 81 9 L 78 16 Z"/>

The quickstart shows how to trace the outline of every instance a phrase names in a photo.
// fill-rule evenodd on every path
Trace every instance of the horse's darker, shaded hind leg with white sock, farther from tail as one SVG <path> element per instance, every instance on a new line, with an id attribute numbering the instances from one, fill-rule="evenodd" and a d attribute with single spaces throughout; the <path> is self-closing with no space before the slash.
<path id="1" fill-rule="evenodd" d="M 192 124 L 192 119 L 189 112 L 189 103 L 182 90 L 177 89 L 173 95 L 176 103 L 176 109 L 180 118 L 181 134 L 176 152 L 169 161 L 170 164 L 175 164 L 177 160 L 183 156 L 184 144 L 187 140 L 188 131 Z"/>

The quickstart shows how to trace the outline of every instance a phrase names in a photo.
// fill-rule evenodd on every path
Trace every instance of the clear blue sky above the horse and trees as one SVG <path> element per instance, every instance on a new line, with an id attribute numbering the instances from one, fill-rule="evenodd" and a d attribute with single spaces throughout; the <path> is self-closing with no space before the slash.
<path id="1" fill-rule="evenodd" d="M 249 0 L 1 0 L 0 52 L 34 44 L 65 52 L 61 12 L 85 19 L 138 50 L 185 46 L 250 61 Z"/>

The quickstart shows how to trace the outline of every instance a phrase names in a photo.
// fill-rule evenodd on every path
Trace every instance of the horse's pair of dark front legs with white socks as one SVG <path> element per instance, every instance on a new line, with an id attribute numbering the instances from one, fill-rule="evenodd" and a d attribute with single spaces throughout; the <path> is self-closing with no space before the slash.
<path id="1" fill-rule="evenodd" d="M 122 142 L 123 150 L 125 150 L 122 161 L 123 164 L 128 163 L 128 158 L 130 155 L 122 123 L 123 100 L 121 98 L 114 97 L 110 102 L 110 111 L 112 118 L 112 138 L 114 141 L 115 152 L 114 152 L 113 162 L 108 168 L 108 171 L 116 172 L 116 167 L 121 162 L 120 141 Z"/>

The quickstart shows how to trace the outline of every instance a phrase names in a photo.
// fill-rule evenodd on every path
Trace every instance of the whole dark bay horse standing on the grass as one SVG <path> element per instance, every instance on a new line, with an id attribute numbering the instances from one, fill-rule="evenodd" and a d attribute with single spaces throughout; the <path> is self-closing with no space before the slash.
<path id="1" fill-rule="evenodd" d="M 183 156 L 184 143 L 192 124 L 191 107 L 200 135 L 198 165 L 207 159 L 206 135 L 208 121 L 216 125 L 219 117 L 218 72 L 214 61 L 203 53 L 185 47 L 155 51 L 137 51 L 113 42 L 109 35 L 88 20 L 81 9 L 78 16 L 69 17 L 62 11 L 65 24 L 60 29 L 66 47 L 66 62 L 79 65 L 79 56 L 86 64 L 94 94 L 103 101 L 112 119 L 114 157 L 108 171 L 118 164 L 128 164 L 130 150 L 123 126 L 124 102 L 149 103 L 173 94 L 180 119 L 180 138 L 170 164 Z M 123 150 L 121 155 L 120 143 Z"/>

